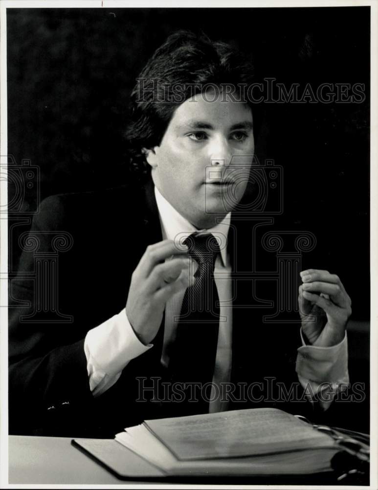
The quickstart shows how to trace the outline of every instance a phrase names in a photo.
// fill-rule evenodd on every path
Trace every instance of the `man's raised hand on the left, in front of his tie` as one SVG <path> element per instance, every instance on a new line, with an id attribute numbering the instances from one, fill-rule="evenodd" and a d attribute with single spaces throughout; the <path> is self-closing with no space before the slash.
<path id="1" fill-rule="evenodd" d="M 156 336 L 168 299 L 194 284 L 195 264 L 187 246 L 173 240 L 146 248 L 133 272 L 126 303 L 127 318 L 142 343 Z"/>

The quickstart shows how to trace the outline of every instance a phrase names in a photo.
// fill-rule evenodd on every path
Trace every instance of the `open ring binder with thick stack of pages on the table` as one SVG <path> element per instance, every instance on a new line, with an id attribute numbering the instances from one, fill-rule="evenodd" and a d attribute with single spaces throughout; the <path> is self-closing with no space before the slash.
<path id="1" fill-rule="evenodd" d="M 114 441 L 76 440 L 74 445 L 121 477 L 331 471 L 340 440 L 314 427 L 278 409 L 234 410 L 146 420 Z"/>

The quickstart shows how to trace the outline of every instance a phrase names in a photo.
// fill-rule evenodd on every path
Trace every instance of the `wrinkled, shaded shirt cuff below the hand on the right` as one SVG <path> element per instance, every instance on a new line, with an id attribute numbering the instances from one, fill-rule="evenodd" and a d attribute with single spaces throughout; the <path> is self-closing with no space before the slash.
<path id="1" fill-rule="evenodd" d="M 344 339 L 330 347 L 303 345 L 298 348 L 295 370 L 298 376 L 316 383 L 348 383 L 348 341 Z"/>

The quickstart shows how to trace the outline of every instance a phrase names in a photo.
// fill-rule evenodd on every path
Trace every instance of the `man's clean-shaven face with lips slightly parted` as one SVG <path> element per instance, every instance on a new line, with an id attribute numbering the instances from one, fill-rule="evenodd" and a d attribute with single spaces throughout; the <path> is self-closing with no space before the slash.
<path id="1" fill-rule="evenodd" d="M 201 229 L 238 204 L 253 152 L 250 108 L 210 91 L 178 106 L 147 161 L 160 193 Z"/>

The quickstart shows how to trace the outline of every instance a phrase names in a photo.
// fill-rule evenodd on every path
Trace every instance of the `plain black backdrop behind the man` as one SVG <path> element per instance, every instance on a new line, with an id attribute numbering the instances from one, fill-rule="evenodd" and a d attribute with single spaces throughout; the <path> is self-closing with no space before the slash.
<path id="1" fill-rule="evenodd" d="M 256 153 L 284 168 L 277 229 L 314 233 L 317 245 L 303 267 L 337 273 L 352 298 L 359 323 L 349 336 L 351 381 L 368 382 L 368 331 L 360 322 L 370 317 L 369 7 L 8 8 L 8 153 L 16 162 L 8 175 L 24 191 L 9 214 L 10 271 L 17 237 L 40 199 L 133 178 L 123 138 L 129 94 L 148 58 L 180 28 L 239 47 L 259 76 L 286 87 L 365 84 L 363 103 L 265 104 Z M 39 174 L 25 176 L 22 159 Z M 10 178 L 13 204 L 19 191 Z M 360 409 L 366 428 L 368 403 Z"/>

